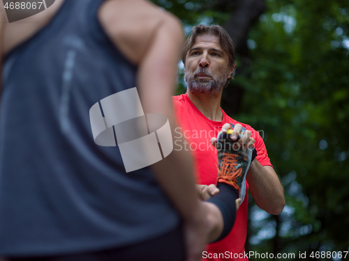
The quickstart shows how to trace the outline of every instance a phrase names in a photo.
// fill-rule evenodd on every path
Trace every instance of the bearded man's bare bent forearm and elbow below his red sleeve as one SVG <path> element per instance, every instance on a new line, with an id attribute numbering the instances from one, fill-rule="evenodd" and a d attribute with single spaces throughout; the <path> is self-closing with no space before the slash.
<path id="1" fill-rule="evenodd" d="M 285 206 L 283 187 L 272 166 L 252 161 L 246 176 L 255 203 L 270 214 L 278 215 Z"/>

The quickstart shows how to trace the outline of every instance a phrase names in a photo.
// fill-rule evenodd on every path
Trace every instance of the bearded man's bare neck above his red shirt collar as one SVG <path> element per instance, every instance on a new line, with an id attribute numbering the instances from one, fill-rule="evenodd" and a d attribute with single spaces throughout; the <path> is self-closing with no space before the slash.
<path id="1" fill-rule="evenodd" d="M 222 121 L 223 113 L 221 110 L 222 91 L 218 95 L 195 94 L 187 90 L 189 99 L 198 108 L 198 110 L 209 120 Z"/>

